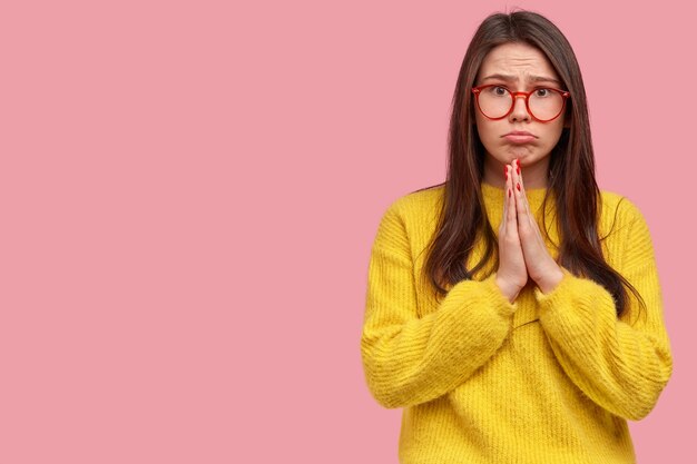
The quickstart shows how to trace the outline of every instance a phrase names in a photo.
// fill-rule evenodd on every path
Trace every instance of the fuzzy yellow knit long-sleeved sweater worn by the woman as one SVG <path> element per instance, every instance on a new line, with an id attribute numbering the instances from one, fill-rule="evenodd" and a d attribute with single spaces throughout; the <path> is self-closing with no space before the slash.
<path id="1" fill-rule="evenodd" d="M 498 231 L 503 190 L 481 188 Z M 547 295 L 529 285 L 510 304 L 492 274 L 446 287 L 439 304 L 420 276 L 442 195 L 440 186 L 393 201 L 369 266 L 361 355 L 377 403 L 404 408 L 400 463 L 635 463 L 627 419 L 649 414 L 673 373 L 641 213 L 602 192 L 606 259 L 640 293 L 645 317 L 629 294 L 618 319 L 609 292 L 566 269 Z M 528 190 L 539 223 L 543 196 Z"/>

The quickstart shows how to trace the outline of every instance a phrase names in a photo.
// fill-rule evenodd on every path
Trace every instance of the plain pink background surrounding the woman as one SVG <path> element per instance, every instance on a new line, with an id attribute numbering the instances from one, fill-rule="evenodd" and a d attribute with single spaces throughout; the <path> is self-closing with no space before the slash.
<path id="1" fill-rule="evenodd" d="M 396 463 L 371 245 L 444 179 L 462 57 L 512 6 L 569 38 L 600 185 L 654 235 L 675 371 L 639 462 L 694 462 L 689 2 L 230 4 L 0 9 L 1 463 Z"/>

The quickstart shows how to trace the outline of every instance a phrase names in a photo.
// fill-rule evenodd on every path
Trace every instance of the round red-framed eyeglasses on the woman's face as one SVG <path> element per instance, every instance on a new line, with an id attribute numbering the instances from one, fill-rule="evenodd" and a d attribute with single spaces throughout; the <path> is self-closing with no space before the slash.
<path id="1" fill-rule="evenodd" d="M 502 119 L 513 111 L 516 98 L 526 99 L 526 108 L 532 119 L 549 122 L 557 119 L 563 111 L 567 99 L 571 96 L 566 90 L 538 87 L 529 92 L 514 92 L 505 86 L 488 83 L 472 88 L 477 107 L 489 119 Z"/>

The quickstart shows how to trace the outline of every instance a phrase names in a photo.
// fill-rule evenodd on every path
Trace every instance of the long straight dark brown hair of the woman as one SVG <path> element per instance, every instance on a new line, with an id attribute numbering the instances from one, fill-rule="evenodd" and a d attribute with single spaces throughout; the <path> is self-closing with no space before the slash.
<path id="1" fill-rule="evenodd" d="M 473 125 L 471 88 L 481 63 L 494 47 L 522 42 L 541 50 L 571 95 L 562 130 L 550 154 L 548 189 L 542 210 L 553 194 L 560 244 L 558 263 L 573 275 L 602 285 L 615 298 L 618 317 L 628 304 L 630 290 L 645 306 L 637 290 L 608 265 L 598 236 L 600 189 L 595 177 L 590 124 L 581 71 L 566 37 L 544 17 L 531 11 L 489 16 L 478 28 L 467 50 L 452 100 L 449 131 L 449 166 L 440 220 L 428 249 L 424 274 L 439 296 L 446 294 L 441 284 L 472 279 L 478 272 L 490 275 L 498 268 L 498 243 L 489 224 L 480 189 L 484 147 Z M 426 188 L 433 188 L 431 186 Z M 421 189 L 423 190 L 423 189 Z M 547 221 L 543 221 L 547 224 Z M 548 234 L 548 230 L 544 230 Z M 549 234 L 548 234 L 549 236 Z M 479 263 L 467 268 L 470 253 L 483 239 L 484 253 Z"/>

